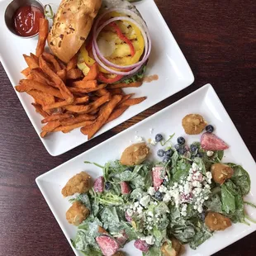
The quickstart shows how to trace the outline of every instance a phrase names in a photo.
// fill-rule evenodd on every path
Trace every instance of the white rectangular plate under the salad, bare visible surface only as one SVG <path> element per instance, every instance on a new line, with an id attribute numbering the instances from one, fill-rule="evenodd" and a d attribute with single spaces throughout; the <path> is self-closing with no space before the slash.
<path id="1" fill-rule="evenodd" d="M 63 230 L 64 235 L 69 240 L 69 244 L 70 239 L 76 234 L 77 228 L 73 225 L 69 225 L 65 219 L 65 212 L 69 209 L 70 203 L 67 199 L 63 198 L 61 189 L 69 178 L 81 171 L 88 172 L 92 175 L 92 178 L 97 178 L 99 175 L 102 175 L 102 169 L 92 164 L 83 164 L 83 161 L 87 160 L 104 165 L 109 160 L 120 159 L 122 151 L 130 145 L 130 140 L 135 140 L 135 135 L 143 136 L 145 140 L 147 140 L 154 138 L 154 135 L 159 132 L 165 135 L 166 138 L 168 135 L 172 135 L 175 132 L 176 135 L 175 138 L 173 138 L 173 142 L 176 141 L 177 137 L 180 135 L 183 135 L 188 143 L 199 140 L 200 135 L 192 135 L 189 138 L 187 138 L 187 135 L 184 135 L 181 123 L 183 116 L 186 116 L 188 113 L 198 113 L 204 116 L 206 121 L 216 127 L 216 135 L 219 135 L 220 138 L 230 145 L 230 149 L 225 150 L 225 159 L 223 161 L 241 164 L 244 169 L 249 172 L 251 191 L 246 199 L 247 201 L 256 202 L 256 164 L 254 159 L 246 145 L 244 145 L 244 141 L 235 129 L 233 122 L 230 120 L 230 116 L 225 111 L 216 92 L 210 84 L 207 84 L 196 92 L 192 92 L 187 97 L 173 103 L 171 106 L 164 108 L 164 110 L 141 121 L 139 124 L 122 131 L 120 134 L 115 135 L 93 149 L 78 155 L 67 163 L 61 164 L 59 167 L 36 178 L 36 183 Z M 150 128 L 154 129 L 153 134 L 150 134 Z M 152 146 L 154 157 L 156 157 L 155 152 L 157 149 L 157 146 Z M 256 211 L 254 209 L 247 210 L 249 216 L 255 219 Z M 254 230 L 256 230 L 256 225 L 254 224 L 232 225 L 225 231 L 216 232 L 211 239 L 201 244 L 197 250 L 192 250 L 186 246 L 186 252 L 183 256 L 206 256 L 214 254 L 220 249 L 243 238 L 245 235 L 249 235 Z M 125 250 L 129 256 L 141 255 L 140 251 L 135 249 L 132 242 L 126 245 Z M 76 255 L 83 255 L 75 249 L 73 249 L 73 251 Z"/>

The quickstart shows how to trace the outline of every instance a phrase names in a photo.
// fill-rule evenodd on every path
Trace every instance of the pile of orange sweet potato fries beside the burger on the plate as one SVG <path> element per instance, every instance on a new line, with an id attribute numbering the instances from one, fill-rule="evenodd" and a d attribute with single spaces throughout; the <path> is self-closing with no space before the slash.
<path id="1" fill-rule="evenodd" d="M 44 119 L 41 121 L 44 138 L 50 132 L 69 131 L 82 127 L 81 132 L 91 139 L 102 126 L 127 110 L 143 102 L 146 97 L 131 98 L 121 88 L 140 87 L 141 82 L 97 83 L 98 67 L 93 64 L 88 75 L 77 68 L 77 58 L 64 64 L 45 52 L 49 23 L 40 19 L 36 55 L 23 55 L 28 68 L 21 71 L 26 79 L 16 86 L 17 92 L 26 92 L 34 98 L 32 105 Z"/>

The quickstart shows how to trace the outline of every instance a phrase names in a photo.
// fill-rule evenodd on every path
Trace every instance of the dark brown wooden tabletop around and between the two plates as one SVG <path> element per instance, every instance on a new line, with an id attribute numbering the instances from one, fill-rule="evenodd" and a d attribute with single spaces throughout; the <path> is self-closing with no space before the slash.
<path id="1" fill-rule="evenodd" d="M 206 83 L 214 86 L 256 158 L 256 1 L 156 2 L 192 68 L 195 83 L 59 157 L 46 152 L 0 66 L 0 255 L 73 255 L 35 178 Z M 255 240 L 256 233 L 216 255 L 254 255 Z"/>

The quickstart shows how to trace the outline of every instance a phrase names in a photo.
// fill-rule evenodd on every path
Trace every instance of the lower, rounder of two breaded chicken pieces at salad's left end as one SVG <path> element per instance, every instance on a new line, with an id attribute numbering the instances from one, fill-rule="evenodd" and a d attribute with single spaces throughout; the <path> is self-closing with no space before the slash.
<path id="1" fill-rule="evenodd" d="M 79 225 L 90 215 L 90 211 L 80 201 L 74 201 L 66 212 L 66 219 L 70 224 Z"/>

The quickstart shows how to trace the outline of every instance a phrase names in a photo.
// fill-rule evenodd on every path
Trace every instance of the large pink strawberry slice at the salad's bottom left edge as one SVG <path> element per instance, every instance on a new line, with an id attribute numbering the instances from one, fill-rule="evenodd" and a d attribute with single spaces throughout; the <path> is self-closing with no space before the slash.
<path id="1" fill-rule="evenodd" d="M 101 235 L 96 238 L 97 244 L 102 250 L 102 254 L 105 256 L 111 256 L 116 254 L 116 251 L 119 249 L 119 245 L 115 239 L 107 235 Z"/>

